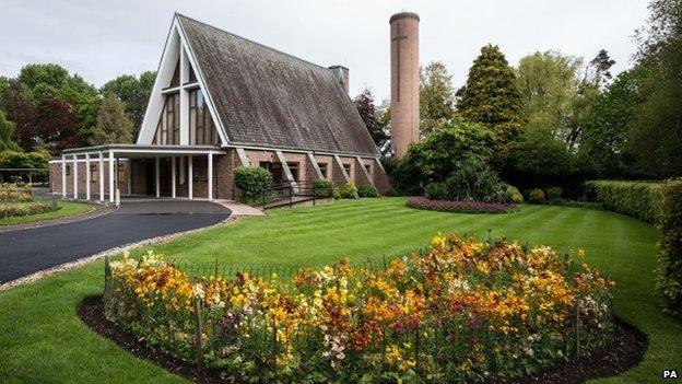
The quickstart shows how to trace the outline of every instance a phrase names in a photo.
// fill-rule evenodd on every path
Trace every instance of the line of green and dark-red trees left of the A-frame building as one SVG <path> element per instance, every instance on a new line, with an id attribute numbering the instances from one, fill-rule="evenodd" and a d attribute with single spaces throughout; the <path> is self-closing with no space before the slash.
<path id="1" fill-rule="evenodd" d="M 101 89 L 54 63 L 0 77 L 0 151 L 46 152 L 137 137 L 155 73 L 120 75 Z"/>

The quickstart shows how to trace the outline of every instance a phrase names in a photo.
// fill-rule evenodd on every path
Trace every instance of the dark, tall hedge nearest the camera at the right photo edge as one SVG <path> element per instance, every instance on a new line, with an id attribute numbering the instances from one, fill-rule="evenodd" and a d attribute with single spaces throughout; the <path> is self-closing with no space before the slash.
<path id="1" fill-rule="evenodd" d="M 666 312 L 682 317 L 682 178 L 665 183 L 661 189 L 662 236 L 656 287 L 665 299 Z"/>

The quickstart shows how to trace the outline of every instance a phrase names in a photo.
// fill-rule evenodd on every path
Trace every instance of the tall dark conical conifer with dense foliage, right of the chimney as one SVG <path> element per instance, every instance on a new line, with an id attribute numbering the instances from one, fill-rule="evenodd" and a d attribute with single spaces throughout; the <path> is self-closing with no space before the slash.
<path id="1" fill-rule="evenodd" d="M 486 45 L 457 91 L 457 110 L 467 120 L 514 136 L 521 123 L 521 95 L 514 70 L 497 46 Z"/>

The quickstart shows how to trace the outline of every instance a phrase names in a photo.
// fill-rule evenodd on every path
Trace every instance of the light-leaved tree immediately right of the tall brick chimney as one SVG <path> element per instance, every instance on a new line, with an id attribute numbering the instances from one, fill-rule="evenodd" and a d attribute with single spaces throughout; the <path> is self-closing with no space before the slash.
<path id="1" fill-rule="evenodd" d="M 455 116 L 452 77 L 440 61 L 420 68 L 420 132 L 428 135 Z"/>

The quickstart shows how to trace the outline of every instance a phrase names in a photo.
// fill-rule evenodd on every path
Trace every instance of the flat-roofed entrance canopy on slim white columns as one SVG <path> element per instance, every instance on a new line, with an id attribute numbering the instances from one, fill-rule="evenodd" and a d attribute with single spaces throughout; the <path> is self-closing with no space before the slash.
<path id="1" fill-rule="evenodd" d="M 97 170 L 99 172 L 99 200 L 104 200 L 104 162 L 106 161 L 108 166 L 108 197 L 110 202 L 115 202 L 116 196 L 120 195 L 118 190 L 118 177 L 114 175 L 118 175 L 118 160 L 119 159 L 155 159 L 155 187 L 156 187 L 156 197 L 160 197 L 160 159 L 161 158 L 169 158 L 172 161 L 172 186 L 173 194 L 172 197 L 176 197 L 175 190 L 175 166 L 176 166 L 176 158 L 187 158 L 188 160 L 188 172 L 190 176 L 188 177 L 189 183 L 189 199 L 192 199 L 192 161 L 195 156 L 207 156 L 208 161 L 208 198 L 209 200 L 213 199 L 213 155 L 214 154 L 225 154 L 226 150 L 216 146 L 142 146 L 142 144 L 105 144 L 105 146 L 95 146 L 95 147 L 84 147 L 84 148 L 73 148 L 67 149 L 61 152 L 61 185 L 62 185 L 62 197 L 67 197 L 67 188 L 63 187 L 67 184 L 67 171 L 66 165 L 68 162 L 73 162 L 73 198 L 78 199 L 78 162 L 85 162 L 85 170 L 90 170 L 91 162 L 98 162 Z M 91 173 L 90 171 L 85 172 L 85 198 L 87 200 L 91 199 Z M 132 184 L 131 173 L 128 172 L 128 194 L 130 195 L 130 188 Z"/>

